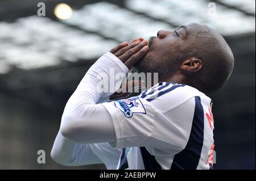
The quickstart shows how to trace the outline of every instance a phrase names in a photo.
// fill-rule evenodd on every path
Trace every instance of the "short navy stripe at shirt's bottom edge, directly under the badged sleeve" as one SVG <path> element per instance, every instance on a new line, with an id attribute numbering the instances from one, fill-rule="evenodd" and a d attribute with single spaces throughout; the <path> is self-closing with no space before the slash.
<path id="1" fill-rule="evenodd" d="M 140 147 L 145 170 L 162 170 L 155 156 L 151 155 L 146 148 Z"/>

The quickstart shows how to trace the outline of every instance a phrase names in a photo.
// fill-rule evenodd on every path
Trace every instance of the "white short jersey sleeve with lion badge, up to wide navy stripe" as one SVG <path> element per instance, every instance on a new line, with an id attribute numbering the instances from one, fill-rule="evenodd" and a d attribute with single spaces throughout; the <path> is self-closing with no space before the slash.
<path id="1" fill-rule="evenodd" d="M 179 86 L 179 89 L 181 91 L 184 88 Z M 171 95 L 164 97 L 163 94 L 159 94 L 160 96 L 150 98 L 138 96 L 103 103 L 114 125 L 116 141 L 113 146 L 151 146 L 175 151 L 184 149 L 195 111 L 194 94 L 183 95 L 180 101 L 176 100 L 176 96 L 172 96 L 176 93 L 168 94 Z"/>

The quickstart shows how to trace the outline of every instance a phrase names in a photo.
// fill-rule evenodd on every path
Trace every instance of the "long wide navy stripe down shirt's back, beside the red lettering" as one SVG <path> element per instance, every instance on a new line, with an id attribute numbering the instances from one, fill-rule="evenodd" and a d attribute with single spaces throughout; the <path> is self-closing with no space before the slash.
<path id="1" fill-rule="evenodd" d="M 191 133 L 185 149 L 174 156 L 171 170 L 194 170 L 199 164 L 204 142 L 204 110 L 200 96 L 195 96 L 195 113 Z"/>

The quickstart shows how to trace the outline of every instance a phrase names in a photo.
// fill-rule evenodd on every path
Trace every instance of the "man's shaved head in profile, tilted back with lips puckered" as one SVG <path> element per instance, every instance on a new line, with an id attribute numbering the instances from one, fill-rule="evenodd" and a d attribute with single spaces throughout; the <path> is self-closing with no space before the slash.
<path id="1" fill-rule="evenodd" d="M 148 53 L 135 64 L 139 72 L 158 72 L 159 81 L 187 83 L 203 92 L 221 88 L 234 67 L 229 45 L 202 24 L 159 31 L 149 40 Z"/>

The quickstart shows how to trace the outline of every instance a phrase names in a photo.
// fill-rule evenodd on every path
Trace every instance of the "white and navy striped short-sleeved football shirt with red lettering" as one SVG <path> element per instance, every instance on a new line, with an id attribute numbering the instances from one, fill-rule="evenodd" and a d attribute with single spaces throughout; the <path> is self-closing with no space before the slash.
<path id="1" fill-rule="evenodd" d="M 137 104 L 131 117 L 117 106 L 130 102 Z M 138 97 L 103 105 L 113 119 L 115 147 L 123 147 L 117 169 L 212 169 L 212 100 L 197 89 L 160 82 Z"/>

